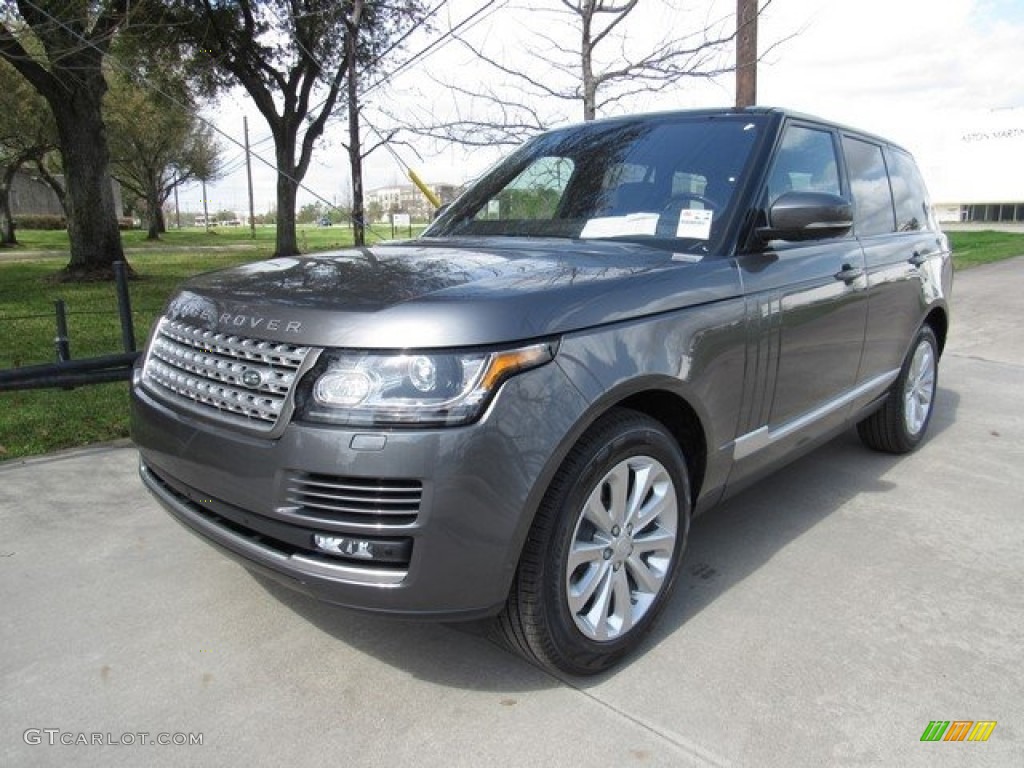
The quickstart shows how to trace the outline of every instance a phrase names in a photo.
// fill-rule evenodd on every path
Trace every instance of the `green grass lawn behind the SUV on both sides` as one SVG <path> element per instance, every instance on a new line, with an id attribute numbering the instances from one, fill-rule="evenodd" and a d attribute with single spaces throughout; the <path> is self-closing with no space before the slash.
<path id="1" fill-rule="evenodd" d="M 232 228 L 225 234 L 185 229 L 169 233 L 148 250 L 131 250 L 129 261 L 138 279 L 131 283 L 135 336 L 141 345 L 174 288 L 189 275 L 268 255 L 273 230 L 257 229 L 254 244 L 249 230 Z M 390 237 L 390 227 L 379 237 Z M 61 244 L 59 238 L 63 238 Z M 17 250 L 67 248 L 65 232 L 19 233 Z M 139 241 L 142 234 L 139 233 Z M 951 232 L 954 265 L 965 269 L 1012 256 L 1024 255 L 1024 234 L 994 231 Z M 301 230 L 300 247 L 327 250 L 350 244 L 344 227 Z M 49 243 L 51 247 L 45 244 Z M 128 249 L 138 243 L 125 239 Z M 231 246 L 204 250 L 197 246 Z M 59 246 L 59 247 L 58 247 Z M 188 250 L 188 248 L 195 250 Z M 65 264 L 54 254 L 30 260 L 4 260 L 0 251 L 0 370 L 49 362 L 54 359 L 53 302 L 62 298 L 73 357 L 121 351 L 121 330 L 114 286 L 110 284 L 54 284 L 48 280 Z M 45 454 L 58 449 L 124 437 L 128 434 L 127 383 L 102 384 L 65 391 L 59 389 L 0 393 L 0 461 Z"/>

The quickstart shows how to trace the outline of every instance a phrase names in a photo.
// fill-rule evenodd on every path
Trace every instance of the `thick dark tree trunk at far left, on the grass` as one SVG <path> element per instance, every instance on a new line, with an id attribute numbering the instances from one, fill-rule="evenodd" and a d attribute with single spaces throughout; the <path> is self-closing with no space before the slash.
<path id="1" fill-rule="evenodd" d="M 65 93 L 62 98 L 46 94 L 63 155 L 71 240 L 71 261 L 65 271 L 75 279 L 113 278 L 114 262 L 125 257 L 100 112 L 105 83 L 92 81 L 90 85 Z"/>

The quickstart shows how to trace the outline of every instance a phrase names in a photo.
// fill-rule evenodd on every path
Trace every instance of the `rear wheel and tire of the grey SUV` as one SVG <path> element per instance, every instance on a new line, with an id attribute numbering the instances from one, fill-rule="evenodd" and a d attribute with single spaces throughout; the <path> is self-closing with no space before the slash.
<path id="1" fill-rule="evenodd" d="M 857 424 L 865 445 L 887 454 L 907 454 L 918 447 L 935 408 L 938 365 L 938 341 L 932 329 L 924 326 L 882 408 Z"/>

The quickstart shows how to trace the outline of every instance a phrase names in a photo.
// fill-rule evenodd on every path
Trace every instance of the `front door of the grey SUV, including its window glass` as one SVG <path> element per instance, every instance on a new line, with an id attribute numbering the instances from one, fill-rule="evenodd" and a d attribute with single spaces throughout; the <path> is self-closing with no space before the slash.
<path id="1" fill-rule="evenodd" d="M 764 190 L 840 195 L 831 131 L 790 123 Z M 864 255 L 852 236 L 769 243 L 738 259 L 751 347 L 748 408 L 733 477 L 767 468 L 841 423 L 849 411 L 867 321 Z"/>

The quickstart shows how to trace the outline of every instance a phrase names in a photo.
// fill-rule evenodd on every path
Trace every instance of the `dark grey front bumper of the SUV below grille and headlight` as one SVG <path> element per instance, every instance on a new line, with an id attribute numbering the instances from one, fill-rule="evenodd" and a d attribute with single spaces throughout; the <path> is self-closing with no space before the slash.
<path id="1" fill-rule="evenodd" d="M 179 413 L 136 386 L 132 436 L 145 486 L 247 567 L 339 605 L 473 618 L 504 604 L 583 409 L 548 365 L 507 381 L 469 426 L 292 423 L 266 439 Z M 317 536 L 352 546 L 328 551 Z"/>

